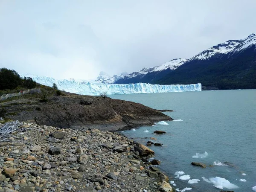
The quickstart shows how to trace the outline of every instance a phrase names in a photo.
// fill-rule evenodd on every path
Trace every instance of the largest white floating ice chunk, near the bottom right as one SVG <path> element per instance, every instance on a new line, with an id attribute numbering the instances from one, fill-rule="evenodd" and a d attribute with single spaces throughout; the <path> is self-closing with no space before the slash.
<path id="1" fill-rule="evenodd" d="M 204 181 L 206 181 L 207 183 L 212 183 L 213 186 L 215 186 L 218 189 L 223 189 L 223 188 L 227 188 L 227 189 L 237 189 L 239 188 L 238 186 L 230 183 L 229 180 L 226 180 L 225 178 L 221 178 L 221 177 L 212 177 L 206 179 L 205 177 L 202 177 L 202 179 Z"/>

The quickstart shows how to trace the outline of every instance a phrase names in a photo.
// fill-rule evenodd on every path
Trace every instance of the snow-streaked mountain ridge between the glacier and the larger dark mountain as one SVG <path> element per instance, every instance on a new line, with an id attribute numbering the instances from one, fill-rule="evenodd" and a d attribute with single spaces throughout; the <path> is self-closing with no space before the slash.
<path id="1" fill-rule="evenodd" d="M 165 62 L 162 65 L 156 66 L 156 67 L 144 67 L 141 70 L 137 72 L 130 73 L 126 76 L 124 76 L 122 79 L 119 79 L 116 81 L 116 83 L 139 83 L 144 82 L 142 79 L 147 76 L 148 74 L 154 73 L 160 73 L 161 71 L 165 70 L 175 70 L 177 67 L 180 67 L 180 65 L 184 64 L 188 59 L 183 58 L 175 58 L 171 61 Z"/>

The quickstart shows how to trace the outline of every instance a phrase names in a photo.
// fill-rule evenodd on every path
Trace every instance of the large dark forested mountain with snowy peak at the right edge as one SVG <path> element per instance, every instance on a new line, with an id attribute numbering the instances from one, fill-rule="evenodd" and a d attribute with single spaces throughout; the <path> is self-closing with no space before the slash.
<path id="1" fill-rule="evenodd" d="M 153 83 L 200 82 L 219 89 L 250 89 L 256 88 L 255 77 L 256 35 L 251 34 L 243 40 L 226 41 L 205 50 Z"/>

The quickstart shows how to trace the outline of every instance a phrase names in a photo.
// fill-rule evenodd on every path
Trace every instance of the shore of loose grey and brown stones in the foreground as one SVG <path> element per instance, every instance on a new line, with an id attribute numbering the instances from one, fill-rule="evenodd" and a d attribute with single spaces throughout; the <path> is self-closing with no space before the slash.
<path id="1" fill-rule="evenodd" d="M 172 192 L 154 151 L 122 134 L 23 122 L 0 142 L 0 192 Z"/>

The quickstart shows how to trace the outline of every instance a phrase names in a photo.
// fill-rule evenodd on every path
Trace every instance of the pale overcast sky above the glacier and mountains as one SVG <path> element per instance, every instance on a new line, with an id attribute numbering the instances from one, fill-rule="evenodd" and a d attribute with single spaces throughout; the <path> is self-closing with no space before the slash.
<path id="1" fill-rule="evenodd" d="M 256 33 L 256 0 L 0 0 L 0 67 L 95 79 Z"/>

